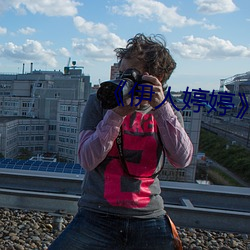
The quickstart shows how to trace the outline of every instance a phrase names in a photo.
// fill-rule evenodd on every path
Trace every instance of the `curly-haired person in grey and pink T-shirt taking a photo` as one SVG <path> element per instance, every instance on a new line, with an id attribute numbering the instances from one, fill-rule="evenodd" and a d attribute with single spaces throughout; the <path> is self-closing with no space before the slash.
<path id="1" fill-rule="evenodd" d="M 173 249 L 158 174 L 165 156 L 183 168 L 193 154 L 182 117 L 164 96 L 176 63 L 160 36 L 137 34 L 115 52 L 121 74 L 134 69 L 152 89 L 109 110 L 89 97 L 79 135 L 86 170 L 79 211 L 49 249 Z"/>

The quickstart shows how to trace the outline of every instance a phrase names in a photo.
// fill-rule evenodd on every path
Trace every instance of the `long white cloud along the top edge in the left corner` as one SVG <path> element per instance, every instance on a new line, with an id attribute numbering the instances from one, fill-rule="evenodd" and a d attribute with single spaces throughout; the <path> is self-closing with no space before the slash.
<path id="1" fill-rule="evenodd" d="M 80 5 L 80 2 L 74 0 L 1 0 L 0 12 L 14 9 L 19 14 L 29 11 L 32 14 L 40 13 L 46 16 L 75 16 L 77 6 Z"/>

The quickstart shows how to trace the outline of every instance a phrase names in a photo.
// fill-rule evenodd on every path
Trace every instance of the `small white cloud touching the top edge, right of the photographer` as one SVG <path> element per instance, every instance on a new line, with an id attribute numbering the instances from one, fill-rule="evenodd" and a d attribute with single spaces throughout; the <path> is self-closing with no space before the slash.
<path id="1" fill-rule="evenodd" d="M 198 6 L 198 12 L 207 15 L 230 13 L 238 10 L 232 0 L 195 0 L 194 3 Z"/>

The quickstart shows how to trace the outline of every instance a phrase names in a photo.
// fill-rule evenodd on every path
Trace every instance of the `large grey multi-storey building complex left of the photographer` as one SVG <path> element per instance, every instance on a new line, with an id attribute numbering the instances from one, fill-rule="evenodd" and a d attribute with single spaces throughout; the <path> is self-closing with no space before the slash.
<path id="1" fill-rule="evenodd" d="M 90 76 L 75 64 L 61 71 L 0 75 L 0 153 L 22 149 L 77 162 L 80 119 L 91 91 Z"/>

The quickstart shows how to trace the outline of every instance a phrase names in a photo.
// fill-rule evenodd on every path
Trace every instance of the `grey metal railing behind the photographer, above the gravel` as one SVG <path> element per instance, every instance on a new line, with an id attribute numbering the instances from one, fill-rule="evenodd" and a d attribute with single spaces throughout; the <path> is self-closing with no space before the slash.
<path id="1" fill-rule="evenodd" d="M 83 176 L 0 172 L 0 207 L 57 216 L 77 212 Z M 29 172 L 29 173 L 28 173 Z M 161 182 L 165 209 L 177 226 L 250 233 L 250 188 Z"/>

